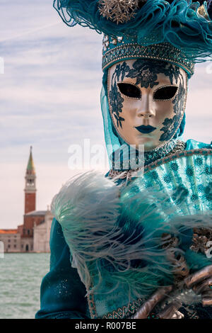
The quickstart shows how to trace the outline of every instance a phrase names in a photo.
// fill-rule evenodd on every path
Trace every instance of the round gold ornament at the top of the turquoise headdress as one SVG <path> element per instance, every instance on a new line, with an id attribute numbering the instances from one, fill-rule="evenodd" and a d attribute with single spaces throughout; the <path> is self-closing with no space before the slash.
<path id="1" fill-rule="evenodd" d="M 135 16 L 141 2 L 146 0 L 100 0 L 100 15 L 117 24 L 126 23 Z"/>

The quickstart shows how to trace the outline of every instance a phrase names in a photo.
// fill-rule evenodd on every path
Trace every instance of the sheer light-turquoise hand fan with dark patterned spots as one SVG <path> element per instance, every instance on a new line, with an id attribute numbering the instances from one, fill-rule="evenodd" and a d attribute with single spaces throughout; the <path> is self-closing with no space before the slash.
<path id="1" fill-rule="evenodd" d="M 174 158 L 166 157 L 148 166 L 144 174 L 138 173 L 122 196 L 148 190 L 158 205 L 162 194 L 167 197 L 163 210 L 172 205 L 179 215 L 206 213 L 212 209 L 211 155 L 210 150 L 200 149 L 195 154 L 185 151 Z"/>

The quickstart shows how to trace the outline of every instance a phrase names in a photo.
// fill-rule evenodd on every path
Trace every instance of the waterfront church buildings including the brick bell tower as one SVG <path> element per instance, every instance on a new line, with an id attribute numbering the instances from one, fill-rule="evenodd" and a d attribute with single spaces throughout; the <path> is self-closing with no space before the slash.
<path id="1" fill-rule="evenodd" d="M 47 210 L 36 210 L 36 174 L 32 147 L 25 172 L 25 204 L 23 225 L 17 229 L 0 230 L 0 241 L 4 252 L 49 252 L 49 237 L 52 214 Z"/>

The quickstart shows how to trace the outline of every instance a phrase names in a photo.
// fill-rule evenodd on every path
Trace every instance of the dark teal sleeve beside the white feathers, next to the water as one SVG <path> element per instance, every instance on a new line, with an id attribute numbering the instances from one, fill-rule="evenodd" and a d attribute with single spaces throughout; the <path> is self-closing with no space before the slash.
<path id="1" fill-rule="evenodd" d="M 86 288 L 71 267 L 69 247 L 54 218 L 50 235 L 50 270 L 42 279 L 36 319 L 89 319 Z"/>

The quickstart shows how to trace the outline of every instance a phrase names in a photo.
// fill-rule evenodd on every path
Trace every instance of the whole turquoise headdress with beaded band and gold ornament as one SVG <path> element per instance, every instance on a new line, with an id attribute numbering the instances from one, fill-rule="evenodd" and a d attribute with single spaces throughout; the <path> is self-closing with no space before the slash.
<path id="1" fill-rule="evenodd" d="M 189 77 L 212 55 L 211 0 L 54 0 L 63 21 L 104 33 L 102 69 L 135 58 L 177 64 Z"/>

